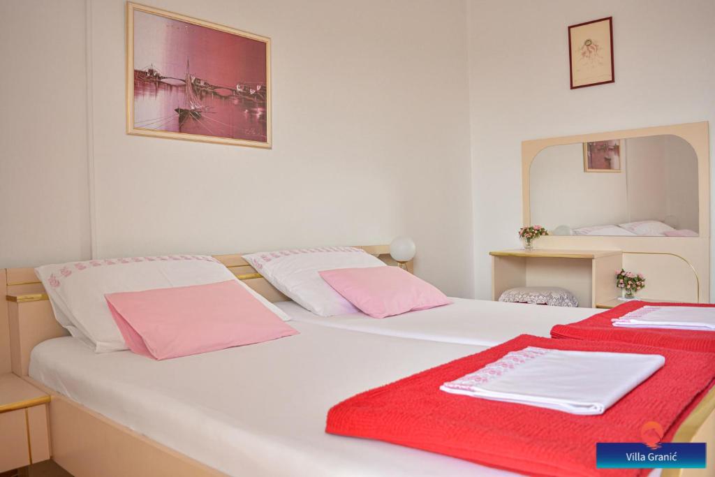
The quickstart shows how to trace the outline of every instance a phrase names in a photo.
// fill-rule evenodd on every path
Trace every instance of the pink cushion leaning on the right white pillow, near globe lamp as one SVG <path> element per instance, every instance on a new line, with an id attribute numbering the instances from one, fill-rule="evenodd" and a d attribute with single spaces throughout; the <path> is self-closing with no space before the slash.
<path id="1" fill-rule="evenodd" d="M 398 267 L 340 268 L 319 273 L 335 291 L 373 318 L 452 303 L 443 292 Z"/>

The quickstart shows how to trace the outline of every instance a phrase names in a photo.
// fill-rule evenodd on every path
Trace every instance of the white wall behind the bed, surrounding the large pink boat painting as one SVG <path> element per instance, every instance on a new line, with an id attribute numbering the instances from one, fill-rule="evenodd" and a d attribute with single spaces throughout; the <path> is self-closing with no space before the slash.
<path id="1" fill-rule="evenodd" d="M 16 135 L 2 135 L 16 142 L 1 162 L 14 182 L 0 192 L 3 218 L 12 214 L 3 224 L 31 230 L 3 232 L 14 242 L 0 267 L 88 255 L 88 71 L 95 256 L 368 245 L 404 234 L 418 245 L 419 275 L 472 295 L 464 1 L 151 3 L 271 37 L 273 148 L 127 136 L 124 0 L 88 0 L 89 70 L 83 2 L 6 1 L 0 31 L 12 44 L 0 47 L 10 64 L 59 72 L 12 99 L 13 109 L 49 101 L 39 121 L 51 132 L 38 140 L 25 130 L 36 114 L 23 112 Z M 36 26 L 49 31 L 27 39 Z M 8 92 L 18 80 L 1 81 Z M 31 174 L 40 169 L 41 181 Z"/>

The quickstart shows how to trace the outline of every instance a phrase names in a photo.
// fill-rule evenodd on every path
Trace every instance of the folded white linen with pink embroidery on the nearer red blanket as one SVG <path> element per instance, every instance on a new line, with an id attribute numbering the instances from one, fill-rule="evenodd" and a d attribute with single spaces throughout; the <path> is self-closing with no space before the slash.
<path id="1" fill-rule="evenodd" d="M 563 351 L 529 346 L 512 351 L 440 389 L 474 398 L 596 415 L 661 368 L 661 355 Z"/>

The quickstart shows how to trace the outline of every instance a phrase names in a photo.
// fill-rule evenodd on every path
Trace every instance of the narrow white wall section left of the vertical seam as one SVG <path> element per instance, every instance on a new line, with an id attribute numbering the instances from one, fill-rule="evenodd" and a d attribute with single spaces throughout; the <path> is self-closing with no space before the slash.
<path id="1" fill-rule="evenodd" d="M 89 257 L 84 17 L 0 1 L 0 268 Z"/>

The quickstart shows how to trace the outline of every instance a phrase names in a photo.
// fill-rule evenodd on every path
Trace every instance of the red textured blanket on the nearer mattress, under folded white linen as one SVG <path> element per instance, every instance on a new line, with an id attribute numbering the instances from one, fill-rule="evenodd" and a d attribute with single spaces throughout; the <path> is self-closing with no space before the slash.
<path id="1" fill-rule="evenodd" d="M 602 415 L 573 415 L 439 389 L 446 381 L 527 346 L 660 354 L 666 363 Z M 330 409 L 325 431 L 387 441 L 530 475 L 643 476 L 649 471 L 596 469 L 596 443 L 641 442 L 641 427 L 648 421 L 660 423 L 666 432 L 664 441 L 669 441 L 712 385 L 714 358 L 706 353 L 626 343 L 521 335 L 482 353 L 355 395 Z"/>

